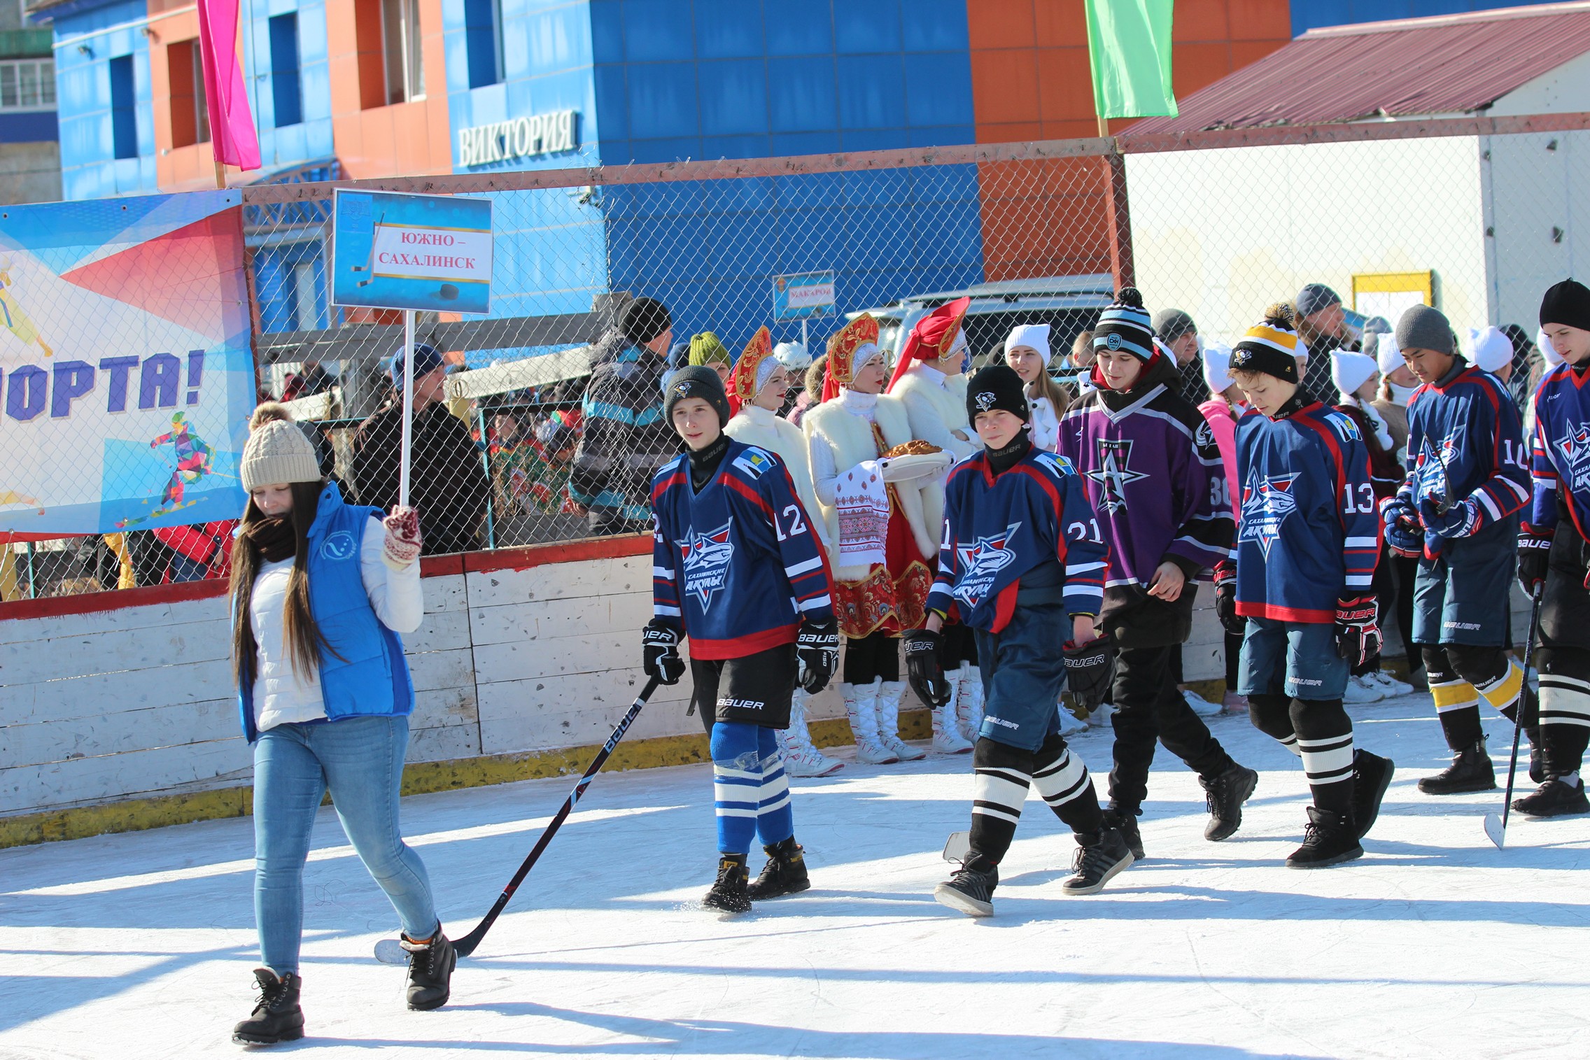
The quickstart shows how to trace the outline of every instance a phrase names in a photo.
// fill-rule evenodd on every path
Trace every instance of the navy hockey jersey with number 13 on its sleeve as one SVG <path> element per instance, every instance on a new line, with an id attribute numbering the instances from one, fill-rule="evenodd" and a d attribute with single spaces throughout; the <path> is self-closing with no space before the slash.
<path id="1" fill-rule="evenodd" d="M 1237 420 L 1237 613 L 1334 623 L 1344 594 L 1369 593 L 1380 512 L 1358 426 L 1317 400 Z"/>

